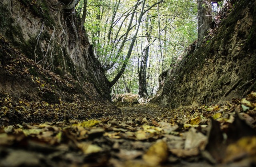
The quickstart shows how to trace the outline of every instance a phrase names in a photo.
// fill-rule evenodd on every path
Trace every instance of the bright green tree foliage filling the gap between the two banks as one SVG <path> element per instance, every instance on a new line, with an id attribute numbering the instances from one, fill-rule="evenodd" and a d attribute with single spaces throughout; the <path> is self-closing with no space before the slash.
<path id="1" fill-rule="evenodd" d="M 158 2 L 146 1 L 147 6 L 152 6 Z M 80 1 L 76 10 L 82 16 L 84 1 Z M 124 57 L 128 52 L 131 38 L 136 27 L 136 19 L 132 22 L 132 29 L 128 33 L 124 49 L 119 52 L 124 34 L 130 22 L 131 12 L 134 9 L 136 0 L 120 1 L 114 18 L 114 24 L 111 24 L 112 16 L 116 9 L 116 1 L 107 0 L 88 0 L 87 13 L 84 28 L 88 34 L 89 40 L 93 45 L 94 54 L 103 67 L 114 64 L 112 68 L 106 71 L 106 75 L 110 81 L 116 76 L 124 63 Z M 141 5 L 137 11 L 140 11 Z M 147 8 L 146 8 L 147 9 Z M 132 93 L 138 93 L 138 66 L 140 65 L 141 55 L 144 52 L 146 43 L 146 18 L 150 18 L 152 25 L 151 43 L 149 49 L 148 69 L 147 69 L 147 87 L 148 92 L 156 93 L 158 89 L 158 76 L 162 71 L 170 68 L 170 64 L 175 63 L 183 51 L 197 37 L 197 3 L 196 1 L 166 0 L 159 4 L 160 16 L 160 35 L 158 31 L 158 8 L 153 6 L 151 10 L 144 14 L 144 20 L 138 31 L 136 43 L 133 47 L 130 61 L 124 72 L 124 79 L 119 79 L 118 93 L 125 92 L 125 83 L 128 84 Z M 112 27 L 111 27 L 112 26 Z M 111 30 L 111 31 L 110 31 Z M 110 33 L 110 39 L 108 34 Z M 159 47 L 159 38 L 161 39 L 161 47 Z M 160 54 L 161 53 L 161 54 Z M 123 81 L 125 80 L 125 81 Z"/>

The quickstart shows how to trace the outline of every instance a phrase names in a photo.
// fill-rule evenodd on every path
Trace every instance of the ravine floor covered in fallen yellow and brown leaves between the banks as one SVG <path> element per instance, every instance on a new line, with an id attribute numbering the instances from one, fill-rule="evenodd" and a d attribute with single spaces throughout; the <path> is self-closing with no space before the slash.
<path id="1" fill-rule="evenodd" d="M 256 165 L 256 93 L 232 103 L 120 107 L 111 118 L 0 127 L 0 166 Z"/>

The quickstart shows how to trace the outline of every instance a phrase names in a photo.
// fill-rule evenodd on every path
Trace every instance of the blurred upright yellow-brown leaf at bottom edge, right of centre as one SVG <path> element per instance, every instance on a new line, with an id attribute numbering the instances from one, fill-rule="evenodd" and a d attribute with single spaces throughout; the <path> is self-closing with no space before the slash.
<path id="1" fill-rule="evenodd" d="M 149 165 L 156 166 L 160 163 L 166 161 L 168 158 L 168 147 L 167 143 L 164 140 L 160 140 L 154 143 L 143 155 L 144 161 Z"/>

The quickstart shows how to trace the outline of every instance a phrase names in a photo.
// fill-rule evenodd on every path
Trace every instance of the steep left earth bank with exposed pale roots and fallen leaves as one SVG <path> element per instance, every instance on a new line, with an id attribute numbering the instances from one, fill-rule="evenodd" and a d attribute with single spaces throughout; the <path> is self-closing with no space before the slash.
<path id="1" fill-rule="evenodd" d="M 0 2 L 0 125 L 120 112 L 79 20 L 56 2 Z"/>

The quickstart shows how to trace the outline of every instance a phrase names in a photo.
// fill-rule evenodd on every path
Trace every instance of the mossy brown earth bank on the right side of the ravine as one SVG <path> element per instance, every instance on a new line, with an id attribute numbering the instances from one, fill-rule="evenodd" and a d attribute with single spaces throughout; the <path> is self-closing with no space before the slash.
<path id="1" fill-rule="evenodd" d="M 255 1 L 236 1 L 208 44 L 162 74 L 152 101 L 173 108 L 215 104 L 256 90 L 255 23 Z"/>

